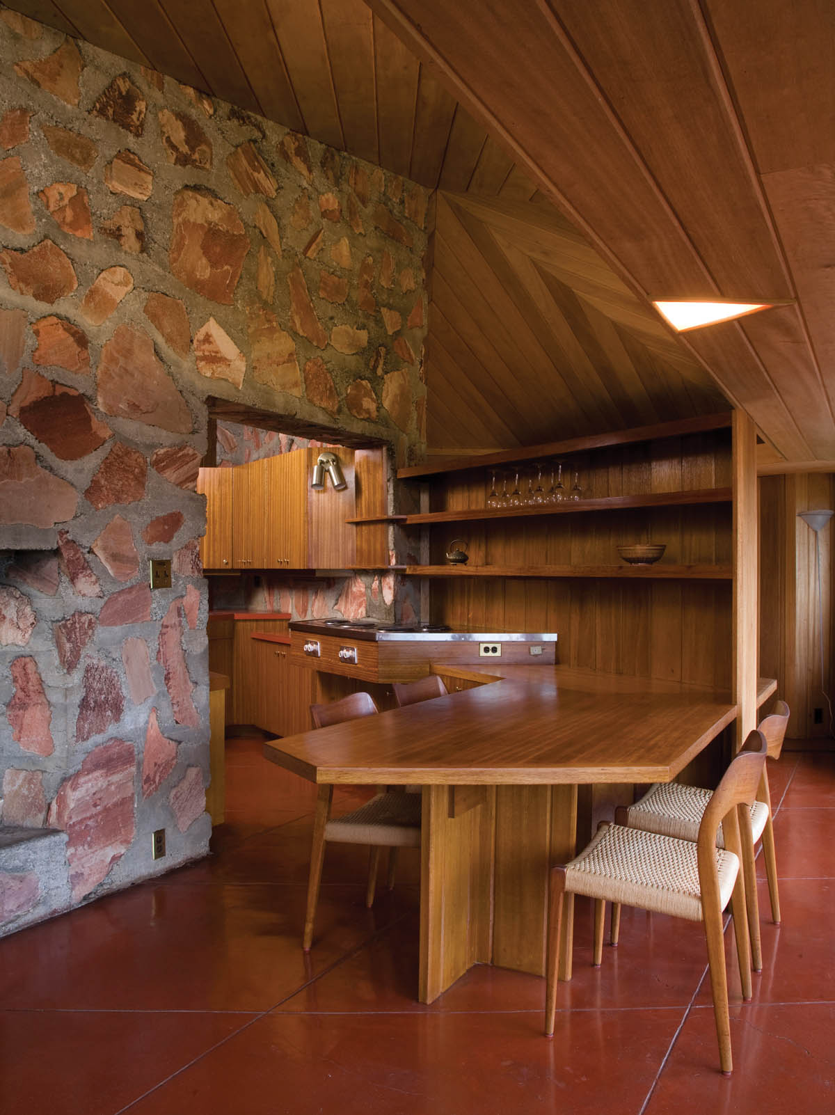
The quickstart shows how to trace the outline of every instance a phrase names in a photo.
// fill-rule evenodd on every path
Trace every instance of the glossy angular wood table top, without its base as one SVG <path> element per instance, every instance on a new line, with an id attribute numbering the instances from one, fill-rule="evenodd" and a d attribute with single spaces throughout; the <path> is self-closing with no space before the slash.
<path id="1" fill-rule="evenodd" d="M 274 739 L 264 755 L 322 784 L 669 782 L 737 715 L 729 694 L 676 682 L 496 662 L 482 676 L 501 680 Z"/>

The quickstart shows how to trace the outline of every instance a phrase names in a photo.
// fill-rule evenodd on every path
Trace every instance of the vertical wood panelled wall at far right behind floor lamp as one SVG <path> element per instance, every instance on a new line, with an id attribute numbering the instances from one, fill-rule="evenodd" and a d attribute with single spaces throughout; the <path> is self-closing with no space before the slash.
<path id="1" fill-rule="evenodd" d="M 759 481 L 759 672 L 777 678 L 777 692 L 788 701 L 788 738 L 831 735 L 823 690 L 833 696 L 832 532 L 821 532 L 821 586 L 824 615 L 824 670 L 821 673 L 821 626 L 815 565 L 815 532 L 797 517 L 800 511 L 835 506 L 835 476 L 799 473 Z M 815 709 L 823 723 L 815 724 Z"/>

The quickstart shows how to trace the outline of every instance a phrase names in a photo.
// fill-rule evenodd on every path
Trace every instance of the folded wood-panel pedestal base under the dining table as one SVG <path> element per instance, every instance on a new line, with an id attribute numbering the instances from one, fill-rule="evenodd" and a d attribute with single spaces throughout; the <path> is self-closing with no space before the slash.
<path id="1" fill-rule="evenodd" d="M 423 794 L 420 1001 L 475 963 L 543 976 L 548 871 L 574 855 L 576 786 L 425 786 Z"/>

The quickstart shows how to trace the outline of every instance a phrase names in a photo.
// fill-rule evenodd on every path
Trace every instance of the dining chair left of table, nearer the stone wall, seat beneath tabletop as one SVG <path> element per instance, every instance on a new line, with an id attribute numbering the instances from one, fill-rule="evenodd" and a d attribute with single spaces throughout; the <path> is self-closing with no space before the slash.
<path id="1" fill-rule="evenodd" d="M 367 692 L 350 694 L 350 696 L 328 705 L 310 706 L 310 715 L 315 728 L 324 728 L 331 724 L 344 724 L 347 720 L 373 716 L 378 711 L 373 698 Z M 302 948 L 305 952 L 310 951 L 313 942 L 313 921 L 322 880 L 324 845 L 328 841 L 337 844 L 369 845 L 368 884 L 366 888 L 366 905 L 369 909 L 373 905 L 380 849 L 420 847 L 419 795 L 381 787 L 375 797 L 360 805 L 359 808 L 331 820 L 333 786 L 320 786 L 313 817 L 308 908 L 302 938 Z M 389 888 L 392 885 L 394 867 L 389 864 Z"/>

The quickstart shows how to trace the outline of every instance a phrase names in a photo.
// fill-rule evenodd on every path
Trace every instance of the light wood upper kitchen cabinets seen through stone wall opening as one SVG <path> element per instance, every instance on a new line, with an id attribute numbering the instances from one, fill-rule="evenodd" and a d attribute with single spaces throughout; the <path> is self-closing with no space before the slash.
<path id="1" fill-rule="evenodd" d="M 320 449 L 297 449 L 233 468 L 203 468 L 207 498 L 203 568 L 346 569 L 356 564 L 352 449 L 337 450 L 347 488 L 310 486 Z"/>

